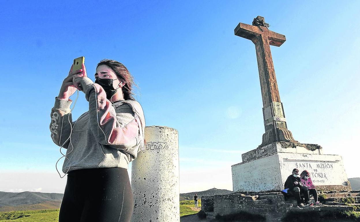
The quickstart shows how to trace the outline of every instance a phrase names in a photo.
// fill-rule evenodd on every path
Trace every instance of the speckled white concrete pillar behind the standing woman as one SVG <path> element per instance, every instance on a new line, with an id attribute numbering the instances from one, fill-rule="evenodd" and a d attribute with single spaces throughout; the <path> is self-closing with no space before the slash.
<path id="1" fill-rule="evenodd" d="M 145 140 L 145 150 L 132 161 L 131 222 L 180 222 L 177 130 L 147 126 Z"/>

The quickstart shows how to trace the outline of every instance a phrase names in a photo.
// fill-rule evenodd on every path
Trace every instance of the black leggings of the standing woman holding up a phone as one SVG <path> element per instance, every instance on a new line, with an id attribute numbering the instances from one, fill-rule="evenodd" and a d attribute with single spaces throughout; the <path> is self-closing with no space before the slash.
<path id="1" fill-rule="evenodd" d="M 126 169 L 78 169 L 68 173 L 59 222 L 130 222 L 133 207 Z"/>

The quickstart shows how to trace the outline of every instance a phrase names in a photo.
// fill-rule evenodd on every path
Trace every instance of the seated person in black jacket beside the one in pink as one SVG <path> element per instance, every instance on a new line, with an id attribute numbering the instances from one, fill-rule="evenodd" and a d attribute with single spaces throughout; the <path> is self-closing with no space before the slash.
<path id="1" fill-rule="evenodd" d="M 288 176 L 288 178 L 285 181 L 284 184 L 285 189 L 288 190 L 288 194 L 292 195 L 296 198 L 297 201 L 297 207 L 301 208 L 302 205 L 302 199 L 300 196 L 300 192 L 304 195 L 305 198 L 305 206 L 312 205 L 312 203 L 309 201 L 309 189 L 306 186 L 303 186 L 299 177 L 299 170 L 293 169 L 292 175 Z"/>

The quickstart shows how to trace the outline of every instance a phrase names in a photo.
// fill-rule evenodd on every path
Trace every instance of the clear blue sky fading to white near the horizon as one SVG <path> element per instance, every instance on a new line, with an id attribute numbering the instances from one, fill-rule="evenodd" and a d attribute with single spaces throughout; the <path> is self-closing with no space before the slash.
<path id="1" fill-rule="evenodd" d="M 264 133 L 255 47 L 234 35 L 239 22 L 251 24 L 257 15 L 287 38 L 271 53 L 294 139 L 342 155 L 348 177 L 360 177 L 359 7 L 359 1 L 3 3 L 0 179 L 8 182 L 0 190 L 63 192 L 50 110 L 79 56 L 91 78 L 101 59 L 125 64 L 140 87 L 147 126 L 179 131 L 180 192 L 231 190 L 231 165 Z M 73 118 L 86 110 L 80 92 Z"/>

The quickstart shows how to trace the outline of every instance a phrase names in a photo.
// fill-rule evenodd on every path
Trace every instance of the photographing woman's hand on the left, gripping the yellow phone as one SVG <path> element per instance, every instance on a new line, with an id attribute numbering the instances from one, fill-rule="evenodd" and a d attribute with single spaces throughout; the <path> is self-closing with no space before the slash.
<path id="1" fill-rule="evenodd" d="M 73 65 L 71 65 L 69 75 L 64 79 L 63 84 L 61 85 L 59 96 L 58 96 L 59 99 L 67 100 L 67 99 L 69 99 L 70 96 L 72 96 L 76 92 L 77 88 L 74 86 L 74 83 L 73 83 L 75 76 L 76 77 L 87 76 L 85 64 L 82 64 L 82 69 L 73 71 L 72 68 L 73 68 Z"/>

